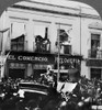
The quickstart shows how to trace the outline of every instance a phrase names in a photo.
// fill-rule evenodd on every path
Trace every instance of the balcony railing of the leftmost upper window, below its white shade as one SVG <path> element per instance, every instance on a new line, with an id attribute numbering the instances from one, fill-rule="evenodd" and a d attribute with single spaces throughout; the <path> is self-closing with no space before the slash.
<path id="1" fill-rule="evenodd" d="M 11 51 L 27 51 L 27 41 L 25 42 L 11 42 Z"/>

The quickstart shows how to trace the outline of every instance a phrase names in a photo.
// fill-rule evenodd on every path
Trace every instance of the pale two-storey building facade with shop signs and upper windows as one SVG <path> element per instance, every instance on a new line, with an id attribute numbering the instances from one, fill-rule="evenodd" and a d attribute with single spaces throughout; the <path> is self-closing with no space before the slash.
<path id="1" fill-rule="evenodd" d="M 47 65 L 57 69 L 59 52 L 60 68 L 79 68 L 89 79 L 102 77 L 101 18 L 87 4 L 68 4 L 23 1 L 5 10 L 0 34 L 2 53 L 11 52 L 7 76 L 37 77 Z"/>

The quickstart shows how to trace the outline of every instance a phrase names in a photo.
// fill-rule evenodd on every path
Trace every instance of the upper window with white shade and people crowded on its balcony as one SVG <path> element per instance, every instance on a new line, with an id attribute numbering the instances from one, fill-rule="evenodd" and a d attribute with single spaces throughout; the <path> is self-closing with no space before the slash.
<path id="1" fill-rule="evenodd" d="M 49 41 L 49 25 L 43 23 L 35 23 L 34 25 L 34 38 L 35 38 L 35 52 L 50 53 Z"/>

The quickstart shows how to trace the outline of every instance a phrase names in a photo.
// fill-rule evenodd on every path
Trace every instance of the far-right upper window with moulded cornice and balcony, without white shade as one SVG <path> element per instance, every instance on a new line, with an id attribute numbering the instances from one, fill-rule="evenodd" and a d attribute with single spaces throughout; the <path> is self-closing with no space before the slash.
<path id="1" fill-rule="evenodd" d="M 91 33 L 91 43 L 89 50 L 89 57 L 91 58 L 102 58 L 102 45 L 101 45 L 101 31 L 102 23 L 92 22 L 88 25 L 90 30 L 95 30 L 95 32 Z"/>

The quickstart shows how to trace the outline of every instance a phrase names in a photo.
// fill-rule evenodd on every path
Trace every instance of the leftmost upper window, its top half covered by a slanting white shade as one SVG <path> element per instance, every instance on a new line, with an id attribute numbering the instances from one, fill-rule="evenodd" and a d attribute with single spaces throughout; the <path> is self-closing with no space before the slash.
<path id="1" fill-rule="evenodd" d="M 13 22 L 11 24 L 11 50 L 24 51 L 25 25 L 24 23 Z"/>

